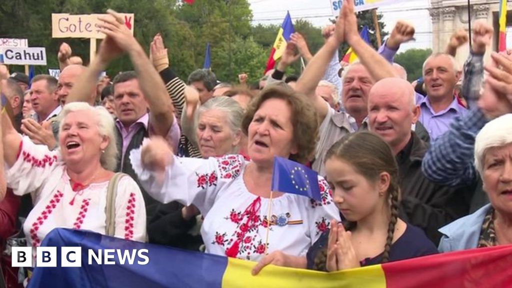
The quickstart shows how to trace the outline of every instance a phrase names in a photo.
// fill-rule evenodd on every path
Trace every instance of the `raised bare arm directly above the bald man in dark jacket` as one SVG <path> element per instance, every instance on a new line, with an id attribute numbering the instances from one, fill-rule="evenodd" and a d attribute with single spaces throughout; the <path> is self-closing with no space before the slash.
<path id="1" fill-rule="evenodd" d="M 345 18 L 345 40 L 357 54 L 362 65 L 368 69 L 375 82 L 383 78 L 395 77 L 393 66 L 359 35 L 353 0 L 343 3 L 342 14 Z"/>

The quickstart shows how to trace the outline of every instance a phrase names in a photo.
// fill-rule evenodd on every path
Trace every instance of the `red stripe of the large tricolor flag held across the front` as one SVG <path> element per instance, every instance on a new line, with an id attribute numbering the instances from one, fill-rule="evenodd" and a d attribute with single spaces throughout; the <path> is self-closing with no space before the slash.
<path id="1" fill-rule="evenodd" d="M 389 288 L 512 287 L 512 245 L 382 264 Z M 426 280 L 428 279 L 428 280 Z"/>

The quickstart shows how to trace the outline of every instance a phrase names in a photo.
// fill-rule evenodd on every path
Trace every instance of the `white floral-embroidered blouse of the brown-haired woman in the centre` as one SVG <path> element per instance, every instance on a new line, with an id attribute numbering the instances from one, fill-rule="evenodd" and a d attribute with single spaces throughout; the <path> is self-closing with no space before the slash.
<path id="1" fill-rule="evenodd" d="M 130 155 L 139 180 L 150 195 L 162 202 L 177 200 L 201 211 L 206 252 L 258 261 L 265 253 L 269 199 L 250 193 L 243 173 L 248 162 L 239 155 L 196 159 L 174 157 L 165 179 L 158 181 L 144 170 L 140 150 Z M 309 247 L 339 221 L 339 211 L 327 182 L 318 177 L 322 202 L 284 194 L 272 199 L 268 252 L 305 256 Z"/>

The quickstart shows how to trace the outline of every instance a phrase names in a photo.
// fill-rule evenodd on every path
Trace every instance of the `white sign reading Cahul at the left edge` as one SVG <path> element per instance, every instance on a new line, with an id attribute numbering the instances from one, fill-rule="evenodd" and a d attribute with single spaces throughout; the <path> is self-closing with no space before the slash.
<path id="1" fill-rule="evenodd" d="M 45 47 L 6 47 L 4 63 L 11 65 L 46 65 Z"/>

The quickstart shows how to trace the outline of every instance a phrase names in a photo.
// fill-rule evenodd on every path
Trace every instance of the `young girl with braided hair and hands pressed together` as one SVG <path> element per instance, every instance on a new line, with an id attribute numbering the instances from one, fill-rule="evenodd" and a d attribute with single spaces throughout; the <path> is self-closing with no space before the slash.
<path id="1" fill-rule="evenodd" d="M 398 217 L 398 166 L 380 136 L 343 137 L 327 152 L 325 166 L 345 221 L 332 221 L 309 249 L 308 269 L 331 272 L 438 253 L 422 230 Z"/>

